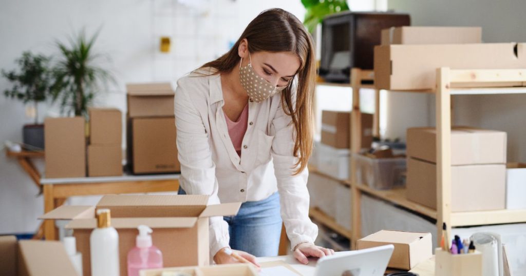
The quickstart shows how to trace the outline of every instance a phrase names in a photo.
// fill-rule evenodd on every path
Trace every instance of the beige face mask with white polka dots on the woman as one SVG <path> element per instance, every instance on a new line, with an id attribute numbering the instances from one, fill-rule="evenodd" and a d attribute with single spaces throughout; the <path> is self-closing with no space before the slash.
<path id="1" fill-rule="evenodd" d="M 241 67 L 241 62 L 239 62 L 239 79 L 241 80 L 241 86 L 247 91 L 248 97 L 255 101 L 256 103 L 261 103 L 277 93 L 281 92 L 287 86 L 274 86 L 270 84 L 266 79 L 259 76 L 254 68 L 252 68 L 252 58 L 250 58 L 250 63 L 247 66 Z"/>

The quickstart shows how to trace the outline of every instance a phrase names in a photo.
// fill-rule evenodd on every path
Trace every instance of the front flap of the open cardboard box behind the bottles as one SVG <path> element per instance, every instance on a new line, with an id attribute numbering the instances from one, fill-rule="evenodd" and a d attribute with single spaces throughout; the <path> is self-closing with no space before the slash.
<path id="1" fill-rule="evenodd" d="M 194 227 L 197 218 L 112 218 L 115 229 L 136 229 L 144 224 L 152 229 L 156 228 L 190 228 Z M 66 229 L 94 229 L 96 219 L 75 219 L 66 224 Z"/>

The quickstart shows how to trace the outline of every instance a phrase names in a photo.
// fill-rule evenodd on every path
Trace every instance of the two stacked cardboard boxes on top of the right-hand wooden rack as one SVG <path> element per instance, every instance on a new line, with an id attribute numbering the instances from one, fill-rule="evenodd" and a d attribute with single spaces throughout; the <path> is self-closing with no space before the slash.
<path id="1" fill-rule="evenodd" d="M 480 33 L 481 29 L 474 27 L 401 27 L 384 30 L 382 45 L 375 47 L 376 87 L 390 90 L 434 89 L 439 67 L 526 67 L 526 44 L 481 43 Z"/>

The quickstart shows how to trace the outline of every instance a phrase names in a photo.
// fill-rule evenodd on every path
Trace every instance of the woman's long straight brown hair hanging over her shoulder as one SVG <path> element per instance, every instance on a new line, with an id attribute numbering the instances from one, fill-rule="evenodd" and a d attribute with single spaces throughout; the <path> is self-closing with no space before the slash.
<path id="1" fill-rule="evenodd" d="M 292 95 L 294 81 L 290 81 L 281 93 L 282 108 L 285 114 L 291 116 L 294 125 L 293 152 L 294 156 L 299 158 L 295 164 L 297 170 L 294 174 L 297 175 L 307 167 L 312 152 L 316 64 L 311 36 L 296 16 L 280 8 L 267 9 L 248 24 L 236 44 L 226 54 L 200 68 L 215 68 L 215 74 L 229 73 L 239 64 L 238 48 L 244 38 L 249 42 L 250 53 L 292 52 L 300 59 L 300 67 L 296 73 L 296 95 Z"/>

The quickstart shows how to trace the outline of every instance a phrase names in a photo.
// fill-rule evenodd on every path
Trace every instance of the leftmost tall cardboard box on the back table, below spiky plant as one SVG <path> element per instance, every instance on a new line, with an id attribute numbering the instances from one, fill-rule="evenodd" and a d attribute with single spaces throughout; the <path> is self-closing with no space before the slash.
<path id="1" fill-rule="evenodd" d="M 86 125 L 83 117 L 46 118 L 46 178 L 86 176 Z"/>

